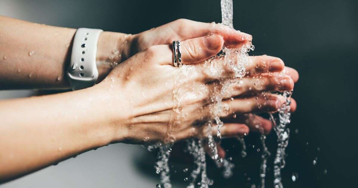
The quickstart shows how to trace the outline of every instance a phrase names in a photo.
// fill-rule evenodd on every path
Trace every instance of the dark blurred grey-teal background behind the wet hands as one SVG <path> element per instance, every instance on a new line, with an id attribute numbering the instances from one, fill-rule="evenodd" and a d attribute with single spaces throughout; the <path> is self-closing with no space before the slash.
<path id="1" fill-rule="evenodd" d="M 16 10 L 26 10 L 26 14 L 30 12 L 32 15 L 20 19 L 121 33 L 140 33 L 179 18 L 221 22 L 220 0 L 16 2 Z M 256 48 L 250 55 L 280 57 L 286 66 L 295 68 L 300 74 L 293 95 L 297 111 L 290 124 L 292 134 L 287 148 L 287 165 L 282 170 L 285 187 L 355 187 L 358 178 L 355 113 L 357 1 L 234 0 L 233 3 L 234 28 L 253 35 Z M 294 133 L 296 129 L 297 134 Z M 275 139 L 274 134 L 267 138 L 272 155 L 266 187 L 272 187 Z M 257 184 L 260 153 L 256 149 L 261 147 L 258 135 L 248 136 L 246 144 L 250 149 L 246 159 L 236 155 L 240 145 L 234 143 L 233 140 L 224 141 L 236 164 L 234 177 L 229 180 L 220 178 L 216 173 L 218 170 L 209 163 L 209 177 L 215 180 L 213 187 Z M 137 158 L 141 173 L 156 175 L 152 168 L 154 160 L 147 160 L 153 159 L 148 157 L 153 155 L 144 153 L 142 158 Z M 316 157 L 317 164 L 313 165 Z M 182 171 L 180 161 L 172 161 L 172 171 Z M 324 170 L 327 170 L 326 174 Z M 292 173 L 299 175 L 296 182 L 291 180 Z M 173 174 L 173 179 L 183 182 L 184 176 Z"/>

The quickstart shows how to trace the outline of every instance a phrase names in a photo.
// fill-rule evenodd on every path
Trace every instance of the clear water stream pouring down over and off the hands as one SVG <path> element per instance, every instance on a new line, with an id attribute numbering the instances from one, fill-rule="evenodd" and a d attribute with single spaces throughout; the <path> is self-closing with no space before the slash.
<path id="1" fill-rule="evenodd" d="M 221 0 L 221 11 L 222 11 L 222 24 L 213 24 L 213 27 L 230 27 L 233 28 L 233 2 L 232 0 Z M 211 75 L 220 75 L 222 73 L 221 69 L 218 69 L 216 66 L 218 63 L 224 62 L 224 67 L 232 70 L 234 75 L 226 75 L 227 78 L 222 78 L 218 82 L 214 83 L 213 91 L 211 91 L 211 96 L 208 99 L 212 102 L 209 106 L 210 108 L 210 119 L 205 122 L 202 126 L 206 128 L 206 138 L 205 139 L 189 139 L 187 140 L 187 151 L 194 158 L 194 170 L 190 173 L 189 178 L 185 178 L 185 181 L 189 182 L 187 188 L 201 187 L 208 188 L 213 184 L 213 180 L 209 179 L 206 174 L 206 159 L 205 159 L 205 150 L 204 144 L 208 143 L 208 148 L 210 150 L 211 158 L 216 162 L 217 166 L 223 168 L 223 176 L 229 178 L 232 176 L 232 169 L 234 165 L 229 162 L 227 159 L 221 159 L 218 156 L 217 146 L 215 138 L 212 136 L 212 127 L 218 126 L 217 138 L 221 139 L 220 129 L 223 126 L 223 122 L 220 120 L 220 114 L 223 110 L 226 109 L 226 106 L 222 106 L 223 96 L 227 91 L 230 84 L 237 82 L 238 79 L 230 78 L 242 78 L 246 74 L 245 65 L 248 64 L 248 52 L 253 50 L 254 47 L 251 44 L 243 45 L 239 49 L 229 49 L 224 47 L 222 56 L 216 56 L 206 60 L 204 63 L 205 73 Z M 220 62 L 219 62 L 220 61 Z M 175 127 L 181 124 L 182 118 L 185 116 L 182 113 L 181 107 L 181 98 L 185 93 L 180 92 L 181 83 L 187 82 L 187 78 L 194 72 L 195 67 L 192 65 L 183 65 L 179 67 L 176 71 L 180 71 L 180 76 L 174 79 L 175 89 L 173 91 L 174 106 L 176 106 L 172 120 L 168 125 L 168 138 L 164 143 L 157 143 L 154 145 L 148 146 L 148 150 L 159 149 L 158 161 L 155 165 L 156 173 L 160 174 L 160 184 L 157 184 L 157 188 L 171 188 L 170 176 L 169 176 L 169 156 L 171 153 L 171 146 L 175 141 L 175 138 L 172 135 L 175 132 Z M 240 83 L 240 81 L 239 81 Z M 188 84 L 187 84 L 188 85 Z M 289 128 L 287 124 L 290 122 L 290 95 L 292 92 L 283 92 L 280 95 L 286 98 L 286 103 L 280 107 L 278 113 L 270 114 L 271 121 L 275 125 L 274 130 L 277 135 L 277 152 L 274 161 L 274 187 L 282 188 L 281 182 L 281 169 L 285 166 L 285 148 L 288 144 L 289 138 Z M 263 94 L 265 95 L 265 94 Z M 246 145 L 243 137 L 237 138 L 240 141 L 242 146 L 241 155 L 246 157 Z M 265 187 L 265 178 L 266 178 L 266 163 L 267 158 L 270 156 L 265 140 L 266 136 L 261 135 L 260 137 L 263 149 L 261 153 L 262 164 L 260 168 L 260 179 L 261 179 L 261 188 Z M 200 179 L 199 179 L 200 178 Z"/>

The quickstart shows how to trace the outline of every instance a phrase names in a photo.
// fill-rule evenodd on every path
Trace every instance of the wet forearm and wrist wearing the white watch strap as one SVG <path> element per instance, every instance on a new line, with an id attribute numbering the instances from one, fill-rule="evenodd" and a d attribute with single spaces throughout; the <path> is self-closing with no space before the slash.
<path id="1" fill-rule="evenodd" d="M 5 16 L 0 16 L 0 23 L 0 89 L 69 88 L 65 73 L 76 29 Z M 130 37 L 126 36 L 101 33 L 96 57 L 98 81 L 110 72 L 111 63 L 128 58 Z"/>

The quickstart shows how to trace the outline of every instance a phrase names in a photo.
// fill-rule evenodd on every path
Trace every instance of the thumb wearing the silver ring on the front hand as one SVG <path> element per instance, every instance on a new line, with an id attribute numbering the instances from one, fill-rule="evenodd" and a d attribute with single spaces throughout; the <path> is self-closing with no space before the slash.
<path id="1" fill-rule="evenodd" d="M 180 52 L 182 54 L 182 63 L 199 63 L 215 56 L 223 47 L 224 40 L 222 36 L 214 34 L 208 37 L 198 37 L 180 42 Z M 153 49 L 154 48 L 154 49 Z M 173 48 L 171 45 L 156 45 L 147 48 L 153 49 L 161 59 L 160 64 L 173 64 Z"/>

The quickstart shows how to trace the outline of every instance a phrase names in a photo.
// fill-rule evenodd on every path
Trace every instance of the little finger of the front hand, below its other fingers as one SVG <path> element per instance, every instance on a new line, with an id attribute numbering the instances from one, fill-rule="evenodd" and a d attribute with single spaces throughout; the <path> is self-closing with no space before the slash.
<path id="1" fill-rule="evenodd" d="M 228 123 L 224 124 L 221 129 L 221 135 L 224 137 L 235 137 L 247 135 L 249 128 L 245 124 Z M 217 126 L 213 126 L 211 133 L 213 136 L 217 134 Z M 206 138 L 208 136 L 208 126 L 188 127 L 181 131 L 175 132 L 176 140 L 184 140 L 189 138 Z"/>

